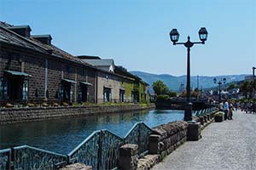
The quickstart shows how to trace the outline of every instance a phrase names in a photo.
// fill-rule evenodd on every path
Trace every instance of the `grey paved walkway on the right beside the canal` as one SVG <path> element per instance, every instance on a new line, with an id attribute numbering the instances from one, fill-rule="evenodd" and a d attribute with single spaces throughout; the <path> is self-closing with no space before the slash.
<path id="1" fill-rule="evenodd" d="M 256 115 L 233 115 L 231 121 L 212 122 L 202 139 L 181 145 L 153 170 L 256 170 Z"/>

